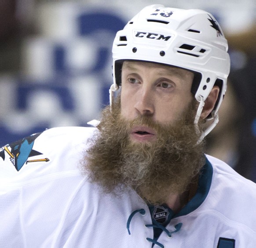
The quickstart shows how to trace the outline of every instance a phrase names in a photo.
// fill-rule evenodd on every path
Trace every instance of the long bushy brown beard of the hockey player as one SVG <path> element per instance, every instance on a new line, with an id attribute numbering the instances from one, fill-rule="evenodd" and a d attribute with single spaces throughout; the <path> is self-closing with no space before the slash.
<path id="1" fill-rule="evenodd" d="M 205 163 L 204 143 L 193 120 L 196 103 L 175 124 L 163 125 L 141 116 L 124 120 L 117 104 L 106 107 L 98 132 L 90 140 L 84 171 L 106 193 L 133 188 L 151 204 L 164 204 L 168 196 L 182 194 Z M 154 142 L 132 142 L 129 130 L 146 125 L 157 133 Z"/>

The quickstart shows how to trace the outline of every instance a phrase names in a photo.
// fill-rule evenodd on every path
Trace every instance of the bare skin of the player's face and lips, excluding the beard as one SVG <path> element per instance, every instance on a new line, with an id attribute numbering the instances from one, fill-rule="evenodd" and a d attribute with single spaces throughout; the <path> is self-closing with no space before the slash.
<path id="1" fill-rule="evenodd" d="M 174 124 L 183 117 L 193 96 L 194 74 L 180 68 L 149 62 L 125 61 L 122 67 L 121 117 L 134 120 L 150 117 L 160 124 Z M 137 126 L 130 138 L 147 142 L 156 138 L 154 130 Z"/>

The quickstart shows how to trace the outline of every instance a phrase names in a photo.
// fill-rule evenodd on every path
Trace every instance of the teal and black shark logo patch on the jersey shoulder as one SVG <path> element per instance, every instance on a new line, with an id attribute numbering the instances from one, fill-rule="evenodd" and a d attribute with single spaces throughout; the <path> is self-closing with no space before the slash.
<path id="1" fill-rule="evenodd" d="M 48 162 L 48 158 L 29 159 L 30 157 L 42 155 L 41 152 L 33 150 L 34 142 L 40 134 L 41 133 L 30 135 L 29 137 L 13 142 L 10 145 L 5 145 L 0 149 L 0 158 L 5 160 L 8 157 L 17 171 L 19 171 L 23 165 L 27 163 Z"/>

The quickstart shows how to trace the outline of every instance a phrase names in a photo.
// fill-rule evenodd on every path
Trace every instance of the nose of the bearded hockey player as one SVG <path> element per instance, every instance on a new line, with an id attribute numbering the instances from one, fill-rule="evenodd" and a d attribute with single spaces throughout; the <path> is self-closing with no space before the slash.
<path id="1" fill-rule="evenodd" d="M 146 87 L 142 87 L 136 95 L 136 111 L 141 115 L 153 115 L 154 98 L 151 90 Z"/>

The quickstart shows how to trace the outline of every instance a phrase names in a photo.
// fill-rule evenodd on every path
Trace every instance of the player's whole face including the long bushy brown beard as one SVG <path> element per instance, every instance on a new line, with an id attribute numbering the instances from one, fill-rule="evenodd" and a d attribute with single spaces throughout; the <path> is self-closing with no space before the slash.
<path id="1" fill-rule="evenodd" d="M 205 163 L 192 80 L 182 69 L 124 62 L 121 99 L 102 111 L 84 158 L 91 181 L 105 192 L 132 187 L 152 204 L 186 191 Z"/>

